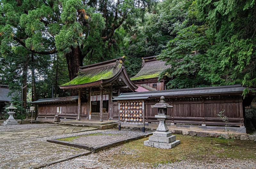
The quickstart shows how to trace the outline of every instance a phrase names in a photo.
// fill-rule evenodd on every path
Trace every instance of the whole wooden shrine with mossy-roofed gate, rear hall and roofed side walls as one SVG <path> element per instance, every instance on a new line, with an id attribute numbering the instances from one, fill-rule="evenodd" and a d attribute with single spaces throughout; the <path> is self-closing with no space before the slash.
<path id="1" fill-rule="evenodd" d="M 167 68 L 169 66 L 156 60 L 155 56 L 143 58 L 141 70 L 130 79 L 124 58 L 82 66 L 76 78 L 60 85 L 63 90 L 77 90 L 78 96 L 32 102 L 38 105 L 37 120 L 53 120 L 57 115 L 62 121 L 118 120 L 121 126 L 150 128 L 158 122 L 155 118 L 157 111 L 151 105 L 164 96 L 166 103 L 173 106 L 168 111 L 170 119 L 167 123 L 187 124 L 187 127 L 224 126 L 217 114 L 225 110 L 230 126 L 241 128 L 238 132 L 246 132 L 245 107 L 255 97 L 252 88 L 246 96 L 243 96 L 245 87 L 240 84 L 165 90 L 166 83 L 172 78 L 163 76 L 158 79 Z"/>

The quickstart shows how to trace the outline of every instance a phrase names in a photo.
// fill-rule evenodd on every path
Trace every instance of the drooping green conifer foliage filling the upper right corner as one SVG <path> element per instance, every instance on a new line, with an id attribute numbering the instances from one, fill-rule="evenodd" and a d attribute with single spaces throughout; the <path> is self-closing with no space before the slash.
<path id="1" fill-rule="evenodd" d="M 198 0 L 212 46 L 201 74 L 212 85 L 242 83 L 255 87 L 256 5 L 254 0 Z"/>

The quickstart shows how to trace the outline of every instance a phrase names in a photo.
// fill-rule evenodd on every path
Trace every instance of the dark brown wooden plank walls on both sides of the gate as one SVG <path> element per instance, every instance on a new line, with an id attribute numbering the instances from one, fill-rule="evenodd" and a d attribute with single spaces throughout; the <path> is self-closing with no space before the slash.
<path id="1" fill-rule="evenodd" d="M 241 96 L 223 96 L 223 97 L 198 97 L 198 98 L 167 98 L 166 103 L 173 107 L 167 109 L 170 118 L 167 123 L 176 124 L 199 124 L 199 125 L 225 125 L 218 118 L 217 114 L 224 111 L 228 117 L 230 126 L 244 126 L 244 106 Z M 113 103 L 113 118 L 118 119 L 118 102 Z M 145 122 L 158 122 L 155 118 L 157 109 L 151 108 L 151 105 L 159 103 L 159 100 L 145 100 Z M 82 119 L 86 119 L 89 114 L 88 103 L 82 103 Z M 57 107 L 61 107 L 61 113 L 57 112 Z M 38 108 L 39 118 L 54 118 L 59 114 L 60 118 L 77 118 L 77 103 L 70 104 L 41 104 Z M 99 116 L 98 116 L 99 119 Z M 108 115 L 103 116 L 108 120 Z"/>

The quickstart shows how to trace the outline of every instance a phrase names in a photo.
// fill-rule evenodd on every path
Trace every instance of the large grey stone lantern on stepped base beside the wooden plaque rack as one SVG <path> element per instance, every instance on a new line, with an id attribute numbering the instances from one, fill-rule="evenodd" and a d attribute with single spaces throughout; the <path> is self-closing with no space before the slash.
<path id="1" fill-rule="evenodd" d="M 167 115 L 167 108 L 171 108 L 168 103 L 165 103 L 164 96 L 160 97 L 160 102 L 151 106 L 152 108 L 158 109 L 158 114 L 155 115 L 157 120 L 159 120 L 159 125 L 153 135 L 149 136 L 149 140 L 144 142 L 144 146 L 156 147 L 162 149 L 172 149 L 176 145 L 180 144 L 180 140 L 176 140 L 176 136 L 172 135 L 165 121 L 170 117 Z"/>

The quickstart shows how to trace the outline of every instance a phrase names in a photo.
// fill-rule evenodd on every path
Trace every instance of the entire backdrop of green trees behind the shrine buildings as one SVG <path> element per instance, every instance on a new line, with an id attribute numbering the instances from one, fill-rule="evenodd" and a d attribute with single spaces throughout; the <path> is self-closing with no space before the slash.
<path id="1" fill-rule="evenodd" d="M 2 0 L 0 83 L 33 91 L 34 72 L 37 99 L 52 85 L 54 96 L 69 96 L 58 86 L 79 66 L 126 56 L 132 77 L 141 58 L 158 55 L 171 65 L 168 88 L 256 86 L 254 0 L 156 2 Z"/>

